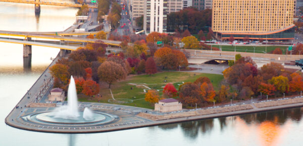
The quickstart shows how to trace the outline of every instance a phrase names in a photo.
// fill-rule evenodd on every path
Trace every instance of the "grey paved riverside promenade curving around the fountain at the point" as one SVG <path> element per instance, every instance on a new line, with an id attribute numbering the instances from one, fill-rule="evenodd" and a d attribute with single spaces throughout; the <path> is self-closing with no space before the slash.
<path id="1" fill-rule="evenodd" d="M 155 126 L 162 124 L 178 123 L 185 121 L 201 120 L 208 118 L 234 116 L 240 114 L 265 112 L 270 110 L 279 110 L 286 108 L 302 107 L 303 96 L 295 96 L 293 98 L 278 99 L 276 101 L 254 103 L 251 101 L 238 105 L 225 105 L 223 107 L 204 108 L 182 110 L 170 113 L 158 113 L 157 111 L 105 103 L 88 103 L 78 102 L 78 108 L 83 110 L 89 107 L 94 112 L 102 112 L 110 114 L 114 120 L 106 124 L 54 124 L 41 123 L 33 119 L 36 114 L 52 112 L 56 107 L 54 104 L 46 104 L 41 100 L 44 94 L 52 86 L 53 80 L 49 74 L 49 67 L 53 66 L 57 58 L 47 67 L 41 74 L 33 86 L 23 96 L 21 101 L 14 107 L 11 113 L 5 119 L 6 124 L 31 131 L 54 132 L 54 133 L 93 133 L 93 132 L 108 132 L 124 129 L 132 129 L 139 127 Z M 32 103 L 40 103 L 42 106 L 31 106 Z M 66 104 L 64 102 L 63 104 Z M 58 106 L 58 104 L 57 104 Z"/>

